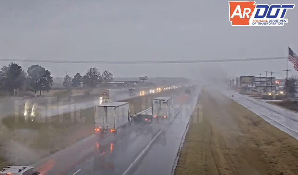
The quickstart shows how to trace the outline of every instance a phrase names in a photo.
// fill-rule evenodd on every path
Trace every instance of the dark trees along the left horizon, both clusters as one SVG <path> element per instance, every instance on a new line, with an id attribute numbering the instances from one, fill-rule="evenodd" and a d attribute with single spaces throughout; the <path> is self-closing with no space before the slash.
<path id="1" fill-rule="evenodd" d="M 76 73 L 74 77 L 66 75 L 64 77 L 63 86 L 66 88 L 80 86 L 88 86 L 95 88 L 102 82 L 113 80 L 113 74 L 105 70 L 100 74 L 95 67 L 90 68 L 85 75 Z M 3 93 L 15 94 L 19 90 L 31 91 L 36 94 L 43 91 L 50 91 L 53 85 L 53 77 L 51 71 L 35 64 L 28 67 L 27 72 L 17 63 L 10 63 L 8 66 L 3 66 L 0 70 L 0 91 Z"/>

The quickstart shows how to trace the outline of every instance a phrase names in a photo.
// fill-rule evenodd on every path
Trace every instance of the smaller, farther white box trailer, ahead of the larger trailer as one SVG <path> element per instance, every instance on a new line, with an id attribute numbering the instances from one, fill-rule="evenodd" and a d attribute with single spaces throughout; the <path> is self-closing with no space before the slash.
<path id="1" fill-rule="evenodd" d="M 174 116 L 172 97 L 158 97 L 153 99 L 152 115 L 154 118 L 170 118 Z"/>

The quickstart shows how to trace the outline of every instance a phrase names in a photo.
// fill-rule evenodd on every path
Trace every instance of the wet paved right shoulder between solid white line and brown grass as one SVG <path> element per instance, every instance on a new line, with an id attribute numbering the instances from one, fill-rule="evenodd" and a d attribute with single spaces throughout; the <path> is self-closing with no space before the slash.
<path id="1" fill-rule="evenodd" d="M 170 175 L 192 112 L 193 107 L 182 106 L 180 115 L 177 115 L 173 123 L 156 138 L 146 155 L 125 174 Z"/>

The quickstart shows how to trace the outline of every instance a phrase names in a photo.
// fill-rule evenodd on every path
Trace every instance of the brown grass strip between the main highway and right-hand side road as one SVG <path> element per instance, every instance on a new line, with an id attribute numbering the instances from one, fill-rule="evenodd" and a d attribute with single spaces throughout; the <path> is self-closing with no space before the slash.
<path id="1" fill-rule="evenodd" d="M 202 92 L 175 175 L 296 175 L 298 141 L 235 101 Z"/>

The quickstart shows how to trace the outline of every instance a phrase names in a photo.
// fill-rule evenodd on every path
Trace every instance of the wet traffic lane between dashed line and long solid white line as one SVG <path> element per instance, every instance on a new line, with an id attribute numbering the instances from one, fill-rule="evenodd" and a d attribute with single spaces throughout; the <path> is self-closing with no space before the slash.
<path id="1" fill-rule="evenodd" d="M 178 112 L 176 108 L 176 112 Z M 66 174 L 123 174 L 139 155 L 143 156 L 142 151 L 155 138 L 162 128 L 162 125 L 150 125 L 136 127 L 126 137 L 118 137 L 114 142 L 103 142 L 97 150 L 98 152 L 79 163 Z M 145 131 L 147 130 L 147 131 Z M 144 131 L 144 133 L 142 133 Z M 112 146 L 111 146 L 112 145 Z M 102 150 L 101 150 L 102 149 Z"/>

